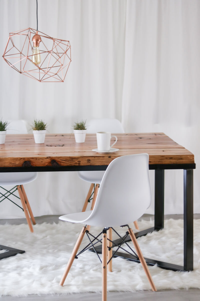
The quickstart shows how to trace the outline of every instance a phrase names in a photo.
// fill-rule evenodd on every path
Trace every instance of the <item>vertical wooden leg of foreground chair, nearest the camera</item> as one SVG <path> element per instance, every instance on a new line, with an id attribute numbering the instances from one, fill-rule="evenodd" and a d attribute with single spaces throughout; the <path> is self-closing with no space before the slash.
<path id="1" fill-rule="evenodd" d="M 102 301 L 107 301 L 107 234 L 102 236 Z"/>

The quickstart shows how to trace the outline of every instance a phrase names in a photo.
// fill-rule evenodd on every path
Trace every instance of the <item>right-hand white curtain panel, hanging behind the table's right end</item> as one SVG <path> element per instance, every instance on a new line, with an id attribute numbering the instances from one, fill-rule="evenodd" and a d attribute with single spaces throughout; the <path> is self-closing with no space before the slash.
<path id="1" fill-rule="evenodd" d="M 199 11 L 196 0 L 127 0 L 122 97 L 126 132 L 164 132 L 195 155 L 196 213 L 200 212 Z M 152 202 L 147 213 L 153 212 Z M 183 213 L 180 170 L 165 171 L 165 214 L 172 213 Z"/>

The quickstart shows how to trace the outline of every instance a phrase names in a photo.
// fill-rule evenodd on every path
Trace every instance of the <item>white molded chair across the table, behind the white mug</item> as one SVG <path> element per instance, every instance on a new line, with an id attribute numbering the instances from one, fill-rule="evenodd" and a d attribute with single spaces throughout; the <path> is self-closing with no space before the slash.
<path id="1" fill-rule="evenodd" d="M 87 123 L 87 133 L 96 133 L 96 132 L 111 132 L 114 133 L 124 133 L 123 126 L 121 122 L 118 119 L 114 118 L 99 118 L 99 119 L 91 119 Z M 103 178 L 105 171 L 79 171 L 78 175 L 79 178 L 82 180 L 91 183 L 87 197 L 85 199 L 85 203 L 82 208 L 82 212 L 84 212 L 87 208 L 88 202 L 91 200 L 91 195 L 93 195 L 92 198 L 92 204 L 91 204 L 91 210 L 94 208 L 94 203 L 97 196 L 97 191 L 99 188 L 99 185 L 101 184 L 101 180 Z M 96 185 L 95 185 L 96 184 Z M 93 191 L 94 188 L 94 191 Z M 92 193 L 93 191 L 93 193 Z M 135 228 L 139 230 L 137 221 L 134 222 Z"/>

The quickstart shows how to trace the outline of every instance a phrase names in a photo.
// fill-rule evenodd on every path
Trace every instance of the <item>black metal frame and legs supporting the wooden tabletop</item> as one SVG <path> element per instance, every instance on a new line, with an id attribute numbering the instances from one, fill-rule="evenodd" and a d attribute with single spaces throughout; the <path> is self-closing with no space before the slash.
<path id="1" fill-rule="evenodd" d="M 54 162 L 52 162 L 54 165 Z M 52 171 L 79 171 L 79 170 L 106 170 L 107 166 L 23 166 L 23 167 L 0 167 L 0 172 L 52 172 Z M 152 231 L 159 231 L 164 228 L 164 170 L 165 169 L 183 169 L 184 170 L 184 265 L 174 265 L 167 262 L 160 262 L 145 258 L 148 265 L 157 265 L 161 268 L 173 271 L 192 271 L 193 270 L 193 169 L 195 163 L 191 164 L 150 164 L 149 169 L 155 170 L 155 212 L 154 227 L 135 233 L 140 237 Z M 116 240 L 119 243 L 121 239 Z M 127 237 L 127 240 L 130 238 Z M 4 246 L 3 246 L 4 247 Z M 12 248 L 5 247 L 7 250 Z M 1 249 L 1 247 L 0 247 Z M 98 253 L 101 253 L 101 245 L 95 247 Z M 16 250 L 16 254 L 20 253 Z M 24 251 L 21 251 L 23 253 Z M 8 252 L 6 252 L 8 253 Z M 2 256 L 5 253 L 2 253 Z M 7 254 L 8 255 L 8 254 Z M 13 256 L 14 251 L 10 256 Z M 115 256 L 120 256 L 139 262 L 139 260 L 130 254 L 117 252 Z M 5 256 L 8 257 L 8 256 Z M 4 257 L 2 257 L 4 258 Z"/>

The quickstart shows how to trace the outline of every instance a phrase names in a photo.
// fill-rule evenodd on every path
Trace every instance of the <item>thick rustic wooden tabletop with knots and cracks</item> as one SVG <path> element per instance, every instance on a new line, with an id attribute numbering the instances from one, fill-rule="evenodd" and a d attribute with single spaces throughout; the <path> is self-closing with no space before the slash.
<path id="1" fill-rule="evenodd" d="M 76 143 L 73 134 L 46 134 L 44 144 L 35 144 L 33 134 L 6 135 L 0 144 L 0 167 L 108 165 L 119 156 L 139 153 L 149 154 L 149 164 L 194 163 L 190 151 L 163 133 L 115 135 L 119 151 L 111 154 L 92 151 L 96 134 L 86 134 L 85 143 Z"/>

